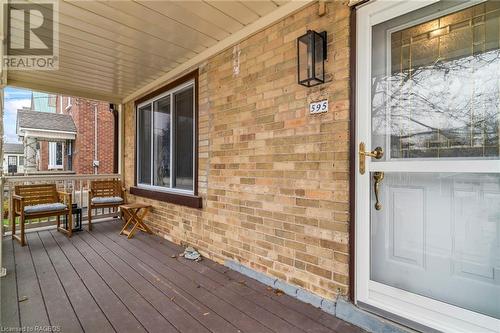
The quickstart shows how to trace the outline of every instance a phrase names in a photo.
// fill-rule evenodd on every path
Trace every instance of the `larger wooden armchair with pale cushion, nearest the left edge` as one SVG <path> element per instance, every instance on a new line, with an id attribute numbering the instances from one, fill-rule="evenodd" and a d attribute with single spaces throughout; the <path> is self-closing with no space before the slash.
<path id="1" fill-rule="evenodd" d="M 71 193 L 58 191 L 56 184 L 15 186 L 11 211 L 12 238 L 17 239 L 21 246 L 26 245 L 25 221 L 31 219 L 55 216 L 57 230 L 71 237 L 73 230 Z M 68 216 L 68 229 L 61 227 L 61 215 Z M 19 236 L 16 234 L 16 217 L 18 216 L 21 228 Z"/>

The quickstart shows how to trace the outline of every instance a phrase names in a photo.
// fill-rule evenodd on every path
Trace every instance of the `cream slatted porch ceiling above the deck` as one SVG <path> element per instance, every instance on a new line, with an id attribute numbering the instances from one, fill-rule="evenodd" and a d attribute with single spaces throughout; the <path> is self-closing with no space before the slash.
<path id="1" fill-rule="evenodd" d="M 59 70 L 10 70 L 7 84 L 130 100 L 308 2 L 60 1 Z"/>

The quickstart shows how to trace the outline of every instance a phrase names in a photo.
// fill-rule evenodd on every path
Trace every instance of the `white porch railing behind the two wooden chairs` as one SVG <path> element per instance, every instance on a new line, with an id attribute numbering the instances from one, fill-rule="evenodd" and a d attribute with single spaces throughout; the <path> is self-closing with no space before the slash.
<path id="1" fill-rule="evenodd" d="M 102 175 L 81 175 L 81 174 L 44 174 L 44 175 L 29 175 L 29 176 L 4 176 L 1 182 L 0 202 L 2 202 L 2 227 L 3 234 L 10 232 L 10 218 L 12 207 L 12 194 L 16 185 L 31 185 L 31 184 L 56 184 L 58 189 L 72 193 L 72 201 L 82 209 L 82 221 L 87 220 L 88 206 L 88 190 L 90 182 L 93 180 L 121 180 L 119 174 L 102 174 Z M 92 219 L 107 218 L 116 216 L 117 212 L 113 208 L 95 209 L 92 213 Z M 54 225 L 55 219 L 33 219 L 26 221 L 26 229 L 40 228 L 49 225 Z"/>

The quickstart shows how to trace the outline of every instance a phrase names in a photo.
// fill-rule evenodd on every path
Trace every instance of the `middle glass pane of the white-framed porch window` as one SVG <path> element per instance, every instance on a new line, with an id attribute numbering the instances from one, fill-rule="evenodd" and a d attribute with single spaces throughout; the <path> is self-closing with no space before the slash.
<path id="1" fill-rule="evenodd" d="M 170 96 L 153 103 L 153 185 L 170 187 Z"/>

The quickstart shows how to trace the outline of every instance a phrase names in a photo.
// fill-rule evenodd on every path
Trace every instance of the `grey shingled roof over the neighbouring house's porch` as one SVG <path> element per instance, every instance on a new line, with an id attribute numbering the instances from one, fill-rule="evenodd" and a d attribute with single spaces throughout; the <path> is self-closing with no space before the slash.
<path id="1" fill-rule="evenodd" d="M 76 133 L 73 118 L 67 114 L 17 110 L 17 131 L 34 129 L 56 132 Z"/>

